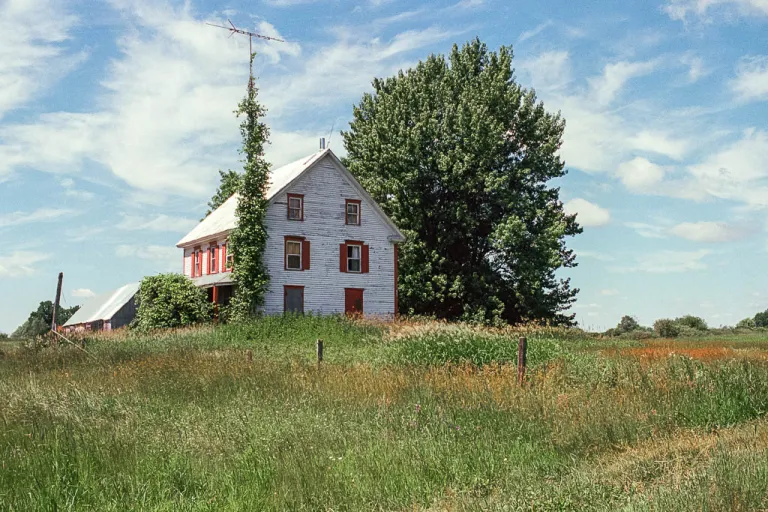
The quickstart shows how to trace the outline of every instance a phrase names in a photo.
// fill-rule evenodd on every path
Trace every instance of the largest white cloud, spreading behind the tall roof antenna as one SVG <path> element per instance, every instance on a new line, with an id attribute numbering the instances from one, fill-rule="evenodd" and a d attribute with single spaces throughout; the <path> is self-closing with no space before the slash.
<path id="1" fill-rule="evenodd" d="M 0 179 L 24 168 L 71 173 L 94 161 L 139 192 L 132 197 L 142 202 L 169 194 L 207 196 L 217 169 L 239 167 L 239 121 L 232 111 L 245 92 L 247 39 L 229 39 L 226 31 L 206 26 L 189 4 L 113 4 L 129 26 L 93 101 L 99 110 L 0 126 Z M 266 21 L 256 30 L 280 37 Z M 322 122 L 318 109 L 359 98 L 372 77 L 396 73 L 414 62 L 411 52 L 455 32 L 432 27 L 384 39 L 368 29 L 334 27 L 329 34 L 331 40 L 307 55 L 296 43 L 254 40 L 259 98 L 276 142 L 266 153 L 275 165 L 297 156 L 298 148 L 316 149 L 317 136 L 329 128 L 313 126 Z M 307 123 L 307 112 L 316 120 Z M 302 130 L 286 134 L 283 126 L 298 113 Z M 305 133 L 312 134 L 306 144 L 281 144 Z M 280 152 L 286 148 L 290 156 Z"/>

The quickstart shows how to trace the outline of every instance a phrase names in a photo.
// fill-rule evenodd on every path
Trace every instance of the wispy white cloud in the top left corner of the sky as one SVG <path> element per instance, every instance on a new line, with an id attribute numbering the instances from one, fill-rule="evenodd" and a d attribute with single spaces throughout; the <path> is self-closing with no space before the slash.
<path id="1" fill-rule="evenodd" d="M 83 55 L 67 52 L 77 19 L 63 5 L 54 0 L 0 3 L 0 118 L 82 60 Z"/>

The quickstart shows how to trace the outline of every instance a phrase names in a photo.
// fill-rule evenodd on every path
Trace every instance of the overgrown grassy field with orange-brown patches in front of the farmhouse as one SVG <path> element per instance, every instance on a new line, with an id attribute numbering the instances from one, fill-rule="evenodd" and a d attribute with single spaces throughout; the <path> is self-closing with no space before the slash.
<path id="1" fill-rule="evenodd" d="M 86 341 L 0 347 L 0 510 L 768 509 L 758 336 L 271 318 Z"/>

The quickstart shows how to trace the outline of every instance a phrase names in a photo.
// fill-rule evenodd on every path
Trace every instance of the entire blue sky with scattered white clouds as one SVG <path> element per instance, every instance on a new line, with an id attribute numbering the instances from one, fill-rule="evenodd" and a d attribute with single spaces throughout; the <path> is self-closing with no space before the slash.
<path id="1" fill-rule="evenodd" d="M 532 6 L 533 5 L 533 6 Z M 479 36 L 567 127 L 585 326 L 734 324 L 768 308 L 765 0 L 0 0 L 0 332 L 178 271 L 175 242 L 235 168 L 256 43 L 275 165 L 338 130 L 376 76 Z"/>

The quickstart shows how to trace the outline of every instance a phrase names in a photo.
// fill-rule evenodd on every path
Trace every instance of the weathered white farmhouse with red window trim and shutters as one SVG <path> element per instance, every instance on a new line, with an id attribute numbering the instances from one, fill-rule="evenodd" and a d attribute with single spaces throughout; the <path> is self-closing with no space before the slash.
<path id="1" fill-rule="evenodd" d="M 264 312 L 397 311 L 397 244 L 402 233 L 330 149 L 270 173 Z M 177 247 L 184 274 L 226 304 L 232 296 L 237 194 L 213 211 Z"/>

